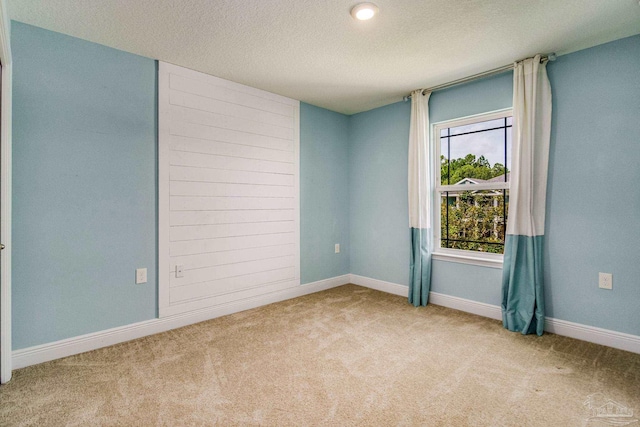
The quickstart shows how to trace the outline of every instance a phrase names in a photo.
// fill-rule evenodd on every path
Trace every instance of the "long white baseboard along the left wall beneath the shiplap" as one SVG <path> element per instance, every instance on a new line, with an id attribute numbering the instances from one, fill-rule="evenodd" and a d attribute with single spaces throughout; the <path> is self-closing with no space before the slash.
<path id="1" fill-rule="evenodd" d="M 273 292 L 266 295 L 248 298 L 228 304 L 222 304 L 213 308 L 193 311 L 190 313 L 177 314 L 163 317 L 161 319 L 151 319 L 144 322 L 133 323 L 107 329 L 100 332 L 81 335 L 52 343 L 28 347 L 12 352 L 13 369 L 20 369 L 86 351 L 96 350 L 136 338 L 169 331 L 191 325 L 193 323 L 214 319 L 220 316 L 237 313 L 251 308 L 260 307 L 278 301 L 296 298 L 314 292 L 324 291 L 349 283 L 350 275 L 332 277 L 330 279 L 319 280 L 313 283 L 296 286 L 294 288 Z"/>

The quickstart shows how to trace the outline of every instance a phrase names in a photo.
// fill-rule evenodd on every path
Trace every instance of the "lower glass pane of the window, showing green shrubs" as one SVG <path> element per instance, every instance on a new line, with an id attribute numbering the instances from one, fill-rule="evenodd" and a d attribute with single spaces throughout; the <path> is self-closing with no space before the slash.
<path id="1" fill-rule="evenodd" d="M 440 201 L 441 247 L 503 253 L 508 190 L 446 191 Z"/>

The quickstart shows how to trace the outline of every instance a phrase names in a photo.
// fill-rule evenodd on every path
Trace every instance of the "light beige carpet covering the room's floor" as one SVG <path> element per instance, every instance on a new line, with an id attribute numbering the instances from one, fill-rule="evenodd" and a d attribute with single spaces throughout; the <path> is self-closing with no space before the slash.
<path id="1" fill-rule="evenodd" d="M 0 425 L 596 426 L 607 404 L 640 418 L 640 355 L 347 285 L 18 370 Z"/>

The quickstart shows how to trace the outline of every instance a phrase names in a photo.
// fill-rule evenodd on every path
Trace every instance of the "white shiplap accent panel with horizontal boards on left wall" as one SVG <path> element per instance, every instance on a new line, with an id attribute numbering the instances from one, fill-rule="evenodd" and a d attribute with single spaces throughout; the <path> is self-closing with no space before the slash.
<path id="1" fill-rule="evenodd" d="M 299 101 L 160 62 L 158 103 L 160 317 L 299 286 Z"/>

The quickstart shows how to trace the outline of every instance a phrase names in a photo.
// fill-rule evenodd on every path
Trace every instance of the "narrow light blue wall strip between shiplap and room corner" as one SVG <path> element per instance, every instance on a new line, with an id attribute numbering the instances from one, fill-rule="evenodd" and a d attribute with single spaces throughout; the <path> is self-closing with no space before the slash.
<path id="1" fill-rule="evenodd" d="M 350 273 L 348 123 L 343 114 L 300 104 L 301 283 Z"/>

